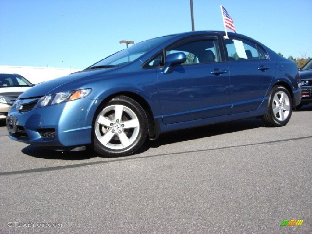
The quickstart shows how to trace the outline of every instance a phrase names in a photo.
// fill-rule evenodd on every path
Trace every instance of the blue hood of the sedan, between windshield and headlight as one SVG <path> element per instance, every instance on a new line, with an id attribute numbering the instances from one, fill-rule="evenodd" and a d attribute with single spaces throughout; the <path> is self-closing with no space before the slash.
<path id="1" fill-rule="evenodd" d="M 72 73 L 68 76 L 63 76 L 60 78 L 56 78 L 53 80 L 48 80 L 46 82 L 40 83 L 36 86 L 33 86 L 31 89 L 22 93 L 19 98 L 32 98 L 32 97 L 42 97 L 48 94 L 57 93 L 60 91 L 70 91 L 71 89 L 66 89 L 66 87 L 71 87 L 70 83 L 77 83 L 79 81 L 83 81 L 86 78 L 90 78 L 92 76 L 96 76 L 98 74 L 106 73 L 107 71 L 114 69 L 99 69 L 99 70 L 83 70 L 76 73 Z M 64 87 L 62 90 L 59 88 Z M 79 87 L 76 87 L 79 88 Z"/>

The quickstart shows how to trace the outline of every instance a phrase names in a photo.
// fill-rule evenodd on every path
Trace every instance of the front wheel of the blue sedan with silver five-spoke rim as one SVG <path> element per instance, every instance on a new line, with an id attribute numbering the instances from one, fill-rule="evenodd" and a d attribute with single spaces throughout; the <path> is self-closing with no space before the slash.
<path id="1" fill-rule="evenodd" d="M 144 144 L 147 129 L 148 121 L 143 108 L 129 97 L 115 97 L 96 113 L 94 149 L 106 157 L 133 154 Z"/>

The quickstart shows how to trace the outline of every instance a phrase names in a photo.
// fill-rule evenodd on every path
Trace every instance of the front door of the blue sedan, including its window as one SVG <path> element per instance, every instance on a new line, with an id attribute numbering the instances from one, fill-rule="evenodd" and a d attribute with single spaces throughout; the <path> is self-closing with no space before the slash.
<path id="1" fill-rule="evenodd" d="M 181 123 L 231 113 L 227 62 L 220 62 L 216 37 L 179 42 L 166 54 L 184 52 L 187 61 L 170 73 L 157 69 L 164 124 Z"/>

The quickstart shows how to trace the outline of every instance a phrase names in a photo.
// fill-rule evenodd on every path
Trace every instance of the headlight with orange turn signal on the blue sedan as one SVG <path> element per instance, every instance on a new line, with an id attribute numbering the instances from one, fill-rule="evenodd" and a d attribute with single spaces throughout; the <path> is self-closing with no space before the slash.
<path id="1" fill-rule="evenodd" d="M 56 94 L 49 94 L 43 96 L 37 102 L 36 107 L 55 105 L 67 101 L 72 101 L 80 98 L 84 98 L 91 93 L 92 89 L 80 89 L 73 91 L 60 92 Z"/>

